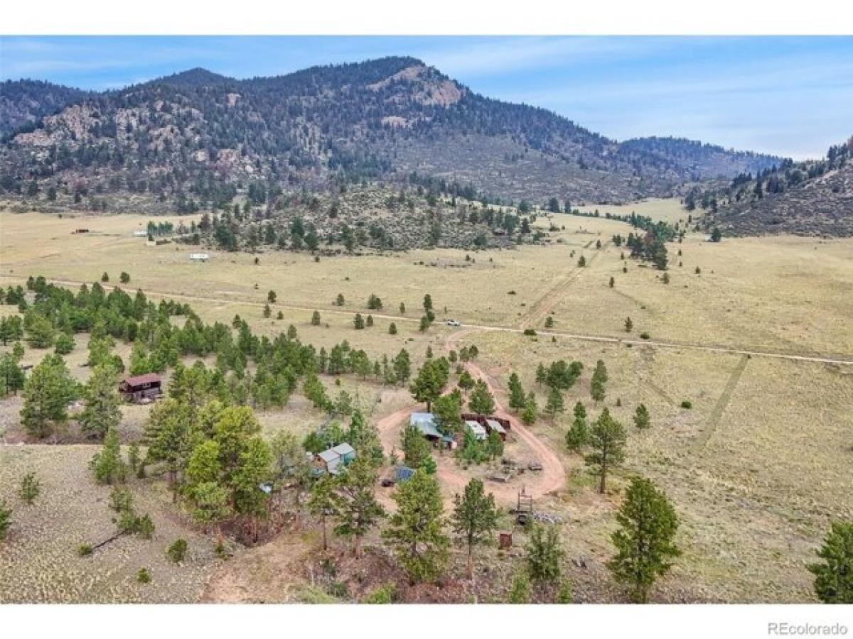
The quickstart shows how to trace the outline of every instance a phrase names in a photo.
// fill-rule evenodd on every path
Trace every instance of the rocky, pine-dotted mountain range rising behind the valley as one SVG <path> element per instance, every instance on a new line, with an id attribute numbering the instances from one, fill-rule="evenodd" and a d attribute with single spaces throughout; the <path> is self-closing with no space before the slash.
<path id="1" fill-rule="evenodd" d="M 102 93 L 20 80 L 2 94 L 0 189 L 77 200 L 215 204 L 252 181 L 328 188 L 417 172 L 504 202 L 609 203 L 782 162 L 675 138 L 620 143 L 406 57 L 247 80 L 197 68 Z"/>

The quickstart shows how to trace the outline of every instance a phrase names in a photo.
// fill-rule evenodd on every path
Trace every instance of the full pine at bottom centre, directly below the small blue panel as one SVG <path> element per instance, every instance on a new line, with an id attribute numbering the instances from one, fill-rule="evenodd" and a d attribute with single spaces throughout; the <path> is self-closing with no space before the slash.
<path id="1" fill-rule="evenodd" d="M 397 512 L 382 537 L 397 549 L 397 560 L 413 584 L 435 581 L 444 572 L 450 538 L 444 534 L 444 504 L 438 480 L 423 469 L 397 486 Z"/>

